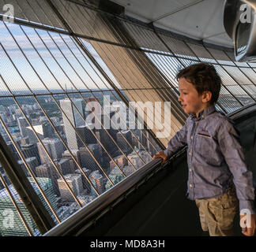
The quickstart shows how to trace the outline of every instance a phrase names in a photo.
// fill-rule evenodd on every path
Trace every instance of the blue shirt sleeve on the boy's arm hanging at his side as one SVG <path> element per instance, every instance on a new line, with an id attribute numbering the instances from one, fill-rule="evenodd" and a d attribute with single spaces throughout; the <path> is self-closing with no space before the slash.
<path id="1" fill-rule="evenodd" d="M 251 214 L 255 214 L 253 174 L 247 165 L 243 148 L 239 141 L 239 132 L 231 121 L 224 120 L 223 124 L 220 125 L 218 141 L 220 150 L 234 178 L 240 211 L 249 209 Z"/>

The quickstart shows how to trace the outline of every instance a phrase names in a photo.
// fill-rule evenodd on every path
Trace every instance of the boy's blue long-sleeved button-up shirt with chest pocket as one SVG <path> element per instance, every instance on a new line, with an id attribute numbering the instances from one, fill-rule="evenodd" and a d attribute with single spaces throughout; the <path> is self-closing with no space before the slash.
<path id="1" fill-rule="evenodd" d="M 188 198 L 218 197 L 235 184 L 240 210 L 255 213 L 253 175 L 232 120 L 215 106 L 202 110 L 198 117 L 190 114 L 164 153 L 170 158 L 186 145 Z"/>

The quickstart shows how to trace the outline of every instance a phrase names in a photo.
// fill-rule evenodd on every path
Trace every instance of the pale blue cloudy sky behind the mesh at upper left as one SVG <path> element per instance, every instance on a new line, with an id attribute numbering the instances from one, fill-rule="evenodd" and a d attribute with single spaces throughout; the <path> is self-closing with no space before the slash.
<path id="1" fill-rule="evenodd" d="M 48 93 L 47 88 L 53 91 L 60 89 L 60 85 L 63 89 L 73 88 L 73 90 L 75 90 L 76 87 L 77 89 L 111 88 L 107 81 L 104 80 L 104 77 L 99 76 L 100 73 L 96 70 L 92 62 L 89 61 L 88 57 L 84 57 L 83 54 L 85 53 L 77 49 L 76 44 L 70 36 L 59 35 L 54 32 L 47 33 L 47 31 L 39 29 L 35 31 L 34 28 L 24 26 L 22 26 L 22 29 L 17 24 L 4 24 L 0 21 L 0 74 L 13 93 L 20 90 L 28 91 L 24 81 L 28 83 L 28 86 L 35 93 L 37 89 L 44 89 L 45 92 Z M 26 35 L 28 37 L 26 37 Z M 17 43 L 13 38 L 16 39 Z M 19 49 L 17 44 L 21 49 Z M 115 77 L 111 75 L 110 70 L 107 69 L 107 65 L 104 64 L 104 61 L 101 60 L 91 44 L 86 41 L 84 41 L 84 44 L 107 75 L 111 77 L 111 80 L 119 87 L 119 83 L 117 83 Z M 70 46 L 70 48 L 68 46 Z M 24 57 L 21 50 L 32 66 L 29 65 L 28 60 Z M 6 53 L 9 54 L 9 57 L 17 69 L 13 67 Z M 63 55 L 70 61 L 70 64 Z M 40 57 L 42 57 L 43 60 Z M 46 62 L 48 69 L 43 61 Z M 38 75 L 32 67 L 36 69 Z M 18 71 L 21 73 L 24 80 L 22 80 Z M 43 87 L 43 83 L 45 83 L 47 88 Z M 0 87 L 0 92 L 1 91 L 6 91 L 2 83 Z M 30 93 L 30 91 L 28 91 L 28 93 Z"/>

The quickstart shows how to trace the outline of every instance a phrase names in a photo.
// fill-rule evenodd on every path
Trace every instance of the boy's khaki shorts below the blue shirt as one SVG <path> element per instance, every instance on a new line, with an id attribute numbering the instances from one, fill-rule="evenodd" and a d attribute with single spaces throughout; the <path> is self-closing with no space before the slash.
<path id="1" fill-rule="evenodd" d="M 216 198 L 196 199 L 201 228 L 210 236 L 232 236 L 233 221 L 239 208 L 235 187 Z"/>

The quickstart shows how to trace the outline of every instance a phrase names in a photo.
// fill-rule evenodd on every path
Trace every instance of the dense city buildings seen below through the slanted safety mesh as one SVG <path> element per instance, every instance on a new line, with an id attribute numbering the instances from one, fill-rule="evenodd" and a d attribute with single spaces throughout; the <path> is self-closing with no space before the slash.
<path id="1" fill-rule="evenodd" d="M 101 99 L 103 95 L 98 95 L 98 97 L 99 102 L 102 102 Z M 91 98 L 93 97 L 91 96 Z M 88 97 L 88 101 L 92 100 L 91 98 Z M 28 116 L 29 124 L 32 126 L 28 124 L 28 121 L 25 119 L 24 115 L 21 114 L 21 111 L 17 108 L 15 103 L 9 106 L 0 105 L 0 117 L 9 129 L 9 134 L 12 135 L 15 144 L 24 157 L 24 161 L 36 177 L 37 182 L 43 179 L 47 179 L 49 183 L 51 182 L 52 193 L 51 196 L 49 196 L 51 197 L 51 204 L 56 206 L 55 212 L 58 214 L 58 217 L 64 219 L 80 208 L 75 198 L 70 194 L 68 187 L 66 187 L 66 183 L 69 184 L 73 194 L 81 205 L 86 206 L 96 198 L 97 193 L 95 189 L 99 195 L 104 193 L 104 191 L 112 187 L 112 184 L 115 185 L 119 183 L 125 176 L 129 176 L 132 172 L 135 172 L 136 169 L 141 168 L 142 165 L 149 162 L 152 159 L 152 155 L 156 153 L 156 150 L 154 153 L 150 152 L 148 148 L 149 143 L 146 142 L 146 139 L 142 139 L 140 130 L 134 130 L 132 135 L 131 130 L 120 131 L 122 132 L 121 134 L 118 130 L 107 130 L 107 133 L 104 129 L 94 129 L 94 134 L 105 146 L 108 152 L 107 154 L 98 140 L 93 136 L 92 132 L 85 127 L 85 122 L 80 120 L 80 123 L 77 124 L 76 120 L 78 120 L 78 118 L 76 117 L 78 117 L 78 115 L 74 115 L 72 110 L 70 113 L 69 108 L 65 108 L 61 101 L 63 101 L 62 98 L 60 98 L 58 102 L 63 111 L 66 110 L 66 115 L 74 119 L 72 121 L 74 128 L 71 124 L 65 124 L 64 115 L 61 111 L 54 111 L 51 108 L 46 111 L 51 114 L 50 119 L 54 122 L 55 130 L 58 131 L 62 139 L 59 139 L 44 114 L 42 112 L 40 113 L 40 107 L 36 106 L 36 102 L 22 105 L 24 113 Z M 73 98 L 73 102 L 76 106 L 80 106 L 80 112 L 85 117 L 85 111 L 81 106 L 81 99 Z M 70 109 L 73 109 L 72 106 L 70 106 Z M 67 130 L 72 130 L 75 134 L 78 132 L 82 139 L 85 140 L 87 147 L 84 146 L 81 141 L 77 141 L 77 146 L 74 148 L 73 143 L 69 143 L 68 141 L 66 135 Z M 34 132 L 37 133 L 40 141 L 36 138 Z M 21 169 L 23 169 L 29 180 L 32 181 L 30 172 L 26 168 L 24 161 L 21 160 L 15 146 L 13 146 L 13 143 L 10 141 L 11 139 L 9 139 L 8 134 L 6 134 L 2 126 L 0 127 L 0 134 L 6 140 L 18 164 L 21 165 Z M 110 135 L 125 155 L 120 152 L 118 146 L 115 146 L 113 140 L 110 139 Z M 128 139 L 130 145 L 126 143 L 122 135 Z M 134 137 L 135 135 L 137 138 Z M 147 136 L 149 137 L 149 135 Z M 143 146 L 138 142 L 138 139 L 143 143 Z M 152 139 L 150 140 L 152 141 Z M 70 151 L 66 149 L 62 141 L 70 148 L 72 155 Z M 44 147 L 40 142 L 43 143 Z M 132 146 L 132 148 L 130 146 Z M 47 150 L 48 154 L 45 150 Z M 75 161 L 73 158 L 75 158 Z M 54 163 L 51 160 L 54 161 Z M 54 164 L 58 170 L 56 170 Z M 133 166 L 136 167 L 136 169 L 134 169 Z M 12 183 L 9 181 L 8 177 L 6 177 L 4 170 L 0 169 L 0 171 L 8 187 L 11 187 Z M 61 172 L 66 183 L 62 180 L 58 171 Z M 86 177 L 84 174 L 86 174 Z M 125 174 L 125 176 L 122 174 Z M 109 180 L 111 180 L 111 183 Z M 6 188 L 3 187 L 2 183 L 0 183 L 0 192 L 1 200 L 1 195 L 7 194 Z M 49 211 L 51 212 L 50 209 Z M 3 226 L 0 226 L 1 233 L 8 233 L 8 230 L 2 230 L 1 228 L 5 229 Z M 36 234 L 36 229 L 32 228 L 32 230 L 34 230 Z M 24 230 L 21 233 L 24 234 Z M 8 234 L 13 234 L 12 228 L 10 228 Z"/>

